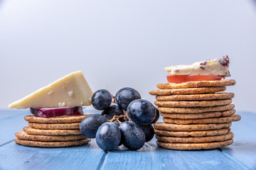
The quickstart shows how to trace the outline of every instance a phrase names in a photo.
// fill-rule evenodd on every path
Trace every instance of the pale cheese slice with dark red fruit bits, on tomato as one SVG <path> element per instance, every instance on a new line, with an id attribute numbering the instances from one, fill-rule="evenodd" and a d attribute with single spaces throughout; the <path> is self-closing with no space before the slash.
<path id="1" fill-rule="evenodd" d="M 230 77 L 228 70 L 229 58 L 223 56 L 220 59 L 195 62 L 191 65 L 176 65 L 165 67 L 164 71 L 169 72 L 169 75 L 218 75 Z"/>

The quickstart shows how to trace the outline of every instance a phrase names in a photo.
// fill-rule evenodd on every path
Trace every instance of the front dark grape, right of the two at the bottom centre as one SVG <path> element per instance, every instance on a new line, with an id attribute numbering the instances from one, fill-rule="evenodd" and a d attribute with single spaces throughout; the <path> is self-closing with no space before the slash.
<path id="1" fill-rule="evenodd" d="M 143 147 L 145 143 L 145 134 L 139 125 L 131 121 L 122 123 L 119 126 L 122 135 L 122 143 L 125 147 L 137 150 Z"/>

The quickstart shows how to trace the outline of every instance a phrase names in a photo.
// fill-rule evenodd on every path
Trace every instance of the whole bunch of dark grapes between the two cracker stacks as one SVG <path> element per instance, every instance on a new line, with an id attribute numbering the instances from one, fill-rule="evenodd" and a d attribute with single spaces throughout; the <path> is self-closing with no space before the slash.
<path id="1" fill-rule="evenodd" d="M 137 90 L 124 87 L 112 96 L 100 89 L 92 95 L 92 106 L 102 113 L 84 118 L 80 132 L 85 137 L 96 138 L 102 150 L 111 151 L 120 145 L 137 150 L 154 137 L 151 124 L 159 119 L 159 111 L 142 99 Z"/>

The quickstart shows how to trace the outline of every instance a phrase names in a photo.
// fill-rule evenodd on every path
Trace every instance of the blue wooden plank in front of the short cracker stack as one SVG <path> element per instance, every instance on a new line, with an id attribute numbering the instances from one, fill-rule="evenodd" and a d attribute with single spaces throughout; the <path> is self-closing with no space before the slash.
<path id="1" fill-rule="evenodd" d="M 95 140 L 80 147 L 24 147 L 11 142 L 0 147 L 0 169 L 97 169 L 102 152 Z"/>

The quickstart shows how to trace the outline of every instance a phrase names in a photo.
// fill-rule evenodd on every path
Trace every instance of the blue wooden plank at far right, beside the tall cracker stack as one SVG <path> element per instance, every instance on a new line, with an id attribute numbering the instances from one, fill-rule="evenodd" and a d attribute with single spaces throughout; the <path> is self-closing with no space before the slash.
<path id="1" fill-rule="evenodd" d="M 250 169 L 256 169 L 256 114 L 239 112 L 242 119 L 231 126 L 235 134 L 234 143 L 230 147 L 223 147 L 223 154 L 237 159 Z"/>

